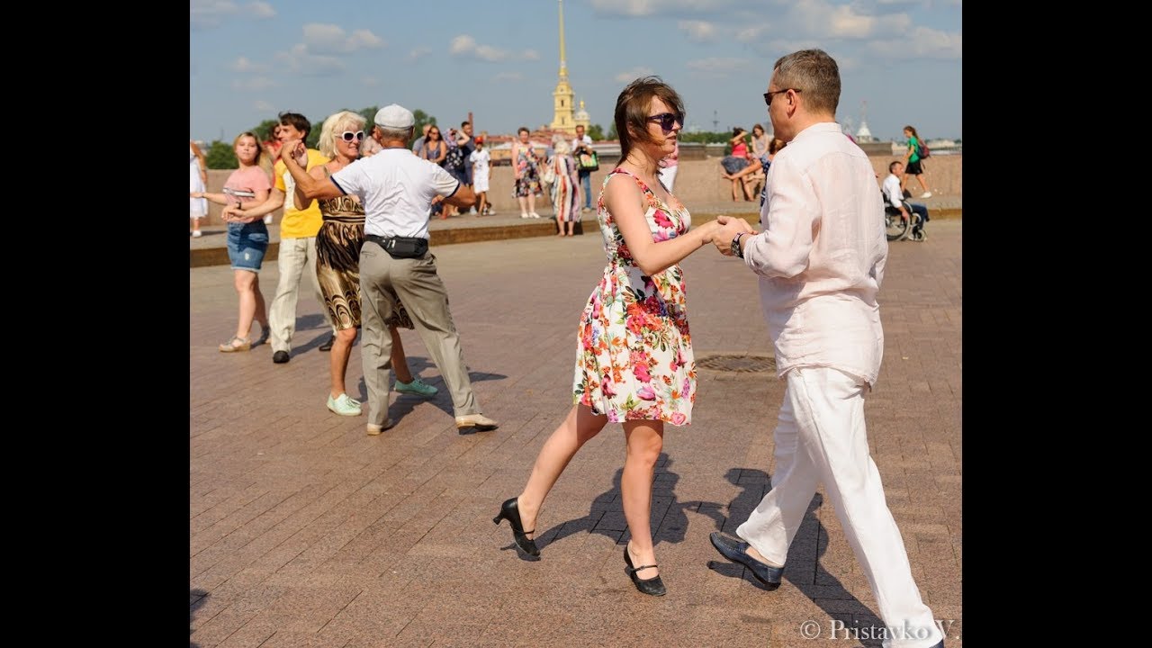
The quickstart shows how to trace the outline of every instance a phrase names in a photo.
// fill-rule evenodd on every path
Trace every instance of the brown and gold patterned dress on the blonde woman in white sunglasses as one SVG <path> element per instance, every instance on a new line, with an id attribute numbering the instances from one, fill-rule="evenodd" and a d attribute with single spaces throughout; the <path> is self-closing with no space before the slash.
<path id="1" fill-rule="evenodd" d="M 325 175 L 331 175 L 324 167 Z M 364 205 L 351 196 L 317 201 L 324 224 L 316 235 L 316 279 L 324 306 L 338 329 L 361 325 L 359 249 L 364 244 Z M 389 326 L 414 329 L 404 304 L 391 293 L 393 309 Z"/>

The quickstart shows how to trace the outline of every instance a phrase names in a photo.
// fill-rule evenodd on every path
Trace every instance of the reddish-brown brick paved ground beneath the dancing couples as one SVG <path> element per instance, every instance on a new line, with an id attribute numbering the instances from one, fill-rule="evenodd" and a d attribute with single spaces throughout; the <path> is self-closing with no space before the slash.
<path id="1" fill-rule="evenodd" d="M 962 220 L 925 243 L 892 246 L 881 291 L 886 355 L 869 398 L 869 437 L 925 601 L 962 635 Z M 694 424 L 667 429 L 653 528 L 668 595 L 635 590 L 621 557 L 622 434 L 609 424 L 573 460 L 541 512 L 541 559 L 517 556 L 492 525 L 570 407 L 576 318 L 599 279 L 598 236 L 434 248 L 464 357 L 494 432 L 458 436 L 418 336 L 412 369 L 431 401 L 393 394 L 399 424 L 324 407 L 328 355 L 318 304 L 300 303 L 291 362 L 268 346 L 221 354 L 235 324 L 227 266 L 189 272 L 190 643 L 377 646 L 879 646 L 829 639 L 831 624 L 879 626 L 841 526 L 813 499 L 785 583 L 764 592 L 723 562 L 710 532 L 733 532 L 774 470 L 782 384 L 700 371 Z M 698 359 L 770 353 L 756 279 L 704 249 L 685 262 Z M 265 296 L 275 263 L 262 272 Z M 349 386 L 365 395 L 359 347 Z M 732 521 L 729 521 L 729 519 Z M 817 640 L 801 626 L 814 621 Z"/>

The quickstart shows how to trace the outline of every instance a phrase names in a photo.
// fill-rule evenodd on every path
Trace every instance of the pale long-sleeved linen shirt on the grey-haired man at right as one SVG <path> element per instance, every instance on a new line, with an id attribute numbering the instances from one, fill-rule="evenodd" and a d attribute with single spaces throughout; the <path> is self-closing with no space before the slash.
<path id="1" fill-rule="evenodd" d="M 874 385 L 888 241 L 872 164 L 839 125 L 823 122 L 775 155 L 765 184 L 761 231 L 744 263 L 760 276 L 778 377 L 825 367 Z"/>

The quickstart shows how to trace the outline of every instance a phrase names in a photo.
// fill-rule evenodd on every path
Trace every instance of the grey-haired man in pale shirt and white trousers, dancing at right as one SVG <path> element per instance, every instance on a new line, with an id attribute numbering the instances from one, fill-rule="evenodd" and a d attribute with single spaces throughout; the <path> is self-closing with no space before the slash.
<path id="1" fill-rule="evenodd" d="M 787 382 L 775 429 L 772 490 L 721 556 L 770 589 L 780 585 L 812 496 L 824 483 L 876 595 L 885 648 L 942 648 L 920 600 L 900 529 L 869 454 L 864 395 L 876 384 L 884 330 L 876 295 L 888 256 L 884 206 L 867 156 L 836 123 L 840 69 L 820 50 L 782 56 L 764 93 L 775 136 L 759 234 L 722 218 L 713 243 L 760 277 L 760 299 Z"/>

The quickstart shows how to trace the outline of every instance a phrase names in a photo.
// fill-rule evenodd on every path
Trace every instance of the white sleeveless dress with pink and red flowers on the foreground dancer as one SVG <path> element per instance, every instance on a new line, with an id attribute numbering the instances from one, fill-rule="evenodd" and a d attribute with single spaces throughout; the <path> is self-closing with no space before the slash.
<path id="1" fill-rule="evenodd" d="M 673 196 L 669 205 L 631 175 L 647 209 L 644 220 L 653 241 L 681 236 L 691 214 Z M 573 382 L 574 401 L 609 421 L 664 421 L 687 425 L 696 402 L 696 361 L 688 332 L 683 270 L 673 265 L 647 277 L 632 261 L 615 219 L 597 204 L 597 220 L 608 265 L 581 316 Z"/>

